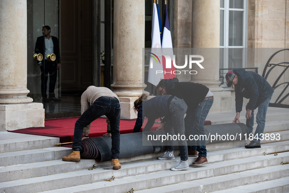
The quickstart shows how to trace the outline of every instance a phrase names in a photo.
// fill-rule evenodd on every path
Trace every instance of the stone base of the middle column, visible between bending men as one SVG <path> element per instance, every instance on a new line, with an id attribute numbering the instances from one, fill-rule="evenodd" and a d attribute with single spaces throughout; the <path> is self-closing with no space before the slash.
<path id="1" fill-rule="evenodd" d="M 120 118 L 121 119 L 136 119 L 137 112 L 133 110 L 133 102 L 138 97 L 118 97 L 120 104 Z"/>

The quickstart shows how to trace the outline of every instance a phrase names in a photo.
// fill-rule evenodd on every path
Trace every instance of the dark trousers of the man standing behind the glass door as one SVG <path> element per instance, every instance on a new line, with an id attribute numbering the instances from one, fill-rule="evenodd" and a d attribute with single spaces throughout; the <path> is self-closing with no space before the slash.
<path id="1" fill-rule="evenodd" d="M 57 79 L 57 64 L 56 62 L 50 62 L 45 60 L 42 62 L 41 69 L 41 94 L 43 98 L 47 98 L 47 81 L 49 76 L 49 98 L 55 97 L 54 89 Z"/>

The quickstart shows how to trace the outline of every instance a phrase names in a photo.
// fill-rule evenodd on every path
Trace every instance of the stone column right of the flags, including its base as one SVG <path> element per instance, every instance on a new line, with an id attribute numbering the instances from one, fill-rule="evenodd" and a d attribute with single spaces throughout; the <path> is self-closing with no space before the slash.
<path id="1" fill-rule="evenodd" d="M 213 92 L 210 112 L 230 110 L 230 92 L 222 92 L 219 86 L 220 0 L 193 0 L 192 8 L 192 48 L 197 52 L 194 54 L 204 57 L 204 69 L 194 65 L 198 73 L 191 76 L 191 82 L 205 85 Z"/>

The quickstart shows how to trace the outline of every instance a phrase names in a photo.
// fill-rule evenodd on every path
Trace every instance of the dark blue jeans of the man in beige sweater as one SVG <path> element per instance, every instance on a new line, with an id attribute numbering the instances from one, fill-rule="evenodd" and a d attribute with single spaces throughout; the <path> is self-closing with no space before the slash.
<path id="1" fill-rule="evenodd" d="M 72 149 L 80 149 L 83 128 L 87 127 L 92 121 L 106 115 L 111 124 L 111 158 L 118 159 L 120 144 L 120 105 L 115 97 L 100 97 L 79 117 L 75 123 Z"/>

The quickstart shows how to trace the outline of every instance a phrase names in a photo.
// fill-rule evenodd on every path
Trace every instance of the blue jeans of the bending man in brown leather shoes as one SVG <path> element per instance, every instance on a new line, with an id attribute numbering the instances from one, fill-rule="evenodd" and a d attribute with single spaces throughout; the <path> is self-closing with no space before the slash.
<path id="1" fill-rule="evenodd" d="M 202 157 L 207 156 L 207 149 L 206 138 L 201 136 L 206 134 L 204 130 L 204 123 L 213 102 L 214 99 L 200 102 L 198 107 L 188 109 L 185 117 L 186 136 L 189 142 L 188 150 L 197 150 L 199 151 L 199 155 Z M 190 140 L 189 137 L 192 138 L 192 135 L 194 136 L 194 139 L 198 140 Z"/>

